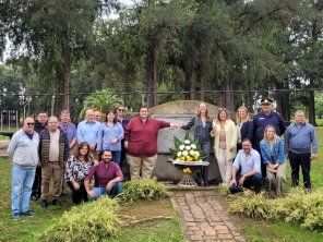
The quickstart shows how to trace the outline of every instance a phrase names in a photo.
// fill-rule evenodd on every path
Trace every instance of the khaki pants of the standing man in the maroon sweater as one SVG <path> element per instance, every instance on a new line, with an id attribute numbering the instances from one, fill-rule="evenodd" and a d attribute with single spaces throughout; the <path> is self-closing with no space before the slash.
<path id="1" fill-rule="evenodd" d="M 152 177 L 157 161 L 157 155 L 146 158 L 125 155 L 125 158 L 130 166 L 130 177 L 132 181 L 140 179 L 140 172 L 142 173 L 142 178 Z"/>

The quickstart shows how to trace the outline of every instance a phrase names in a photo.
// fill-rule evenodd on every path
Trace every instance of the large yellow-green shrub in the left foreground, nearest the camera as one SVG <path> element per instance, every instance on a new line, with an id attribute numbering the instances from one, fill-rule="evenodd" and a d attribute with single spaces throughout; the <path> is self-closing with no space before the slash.
<path id="1" fill-rule="evenodd" d="M 39 241 L 85 242 L 118 237 L 122 233 L 118 211 L 117 201 L 101 196 L 95 202 L 85 203 L 65 211 L 40 234 Z"/>

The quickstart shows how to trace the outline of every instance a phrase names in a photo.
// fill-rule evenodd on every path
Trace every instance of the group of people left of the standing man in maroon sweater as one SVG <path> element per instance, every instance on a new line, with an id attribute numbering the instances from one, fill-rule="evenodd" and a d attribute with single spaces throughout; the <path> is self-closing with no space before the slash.
<path id="1" fill-rule="evenodd" d="M 62 206 L 59 197 L 67 194 L 68 187 L 75 205 L 103 194 L 111 197 L 119 194 L 123 180 L 121 142 L 128 123 L 124 110 L 120 106 L 118 114 L 107 111 L 106 121 L 101 122 L 100 112 L 88 109 L 77 129 L 71 123 L 68 110 L 61 112 L 60 122 L 55 116 L 48 118 L 45 111 L 40 111 L 36 120 L 25 118 L 7 150 L 13 160 L 13 219 L 35 216 L 29 210 L 29 199 L 40 198 L 40 206 L 48 207 L 51 180 L 50 204 L 55 206 Z"/>

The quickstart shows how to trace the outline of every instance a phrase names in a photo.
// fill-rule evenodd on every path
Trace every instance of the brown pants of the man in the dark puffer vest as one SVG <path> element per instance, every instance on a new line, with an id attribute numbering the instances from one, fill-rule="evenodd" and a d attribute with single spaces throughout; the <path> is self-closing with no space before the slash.
<path id="1" fill-rule="evenodd" d="M 62 168 L 59 161 L 49 161 L 46 166 L 41 167 L 41 199 L 48 198 L 49 182 L 52 178 L 52 198 L 59 197 Z"/>

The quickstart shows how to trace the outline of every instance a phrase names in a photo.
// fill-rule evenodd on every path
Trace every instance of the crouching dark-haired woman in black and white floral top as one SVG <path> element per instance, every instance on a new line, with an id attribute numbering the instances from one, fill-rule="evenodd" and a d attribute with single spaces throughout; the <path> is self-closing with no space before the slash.
<path id="1" fill-rule="evenodd" d="M 72 199 L 75 205 L 80 204 L 82 199 L 87 202 L 87 193 L 84 187 L 84 178 L 89 172 L 94 164 L 93 156 L 89 154 L 89 145 L 82 142 L 74 155 L 70 156 L 64 179 L 72 191 Z"/>

